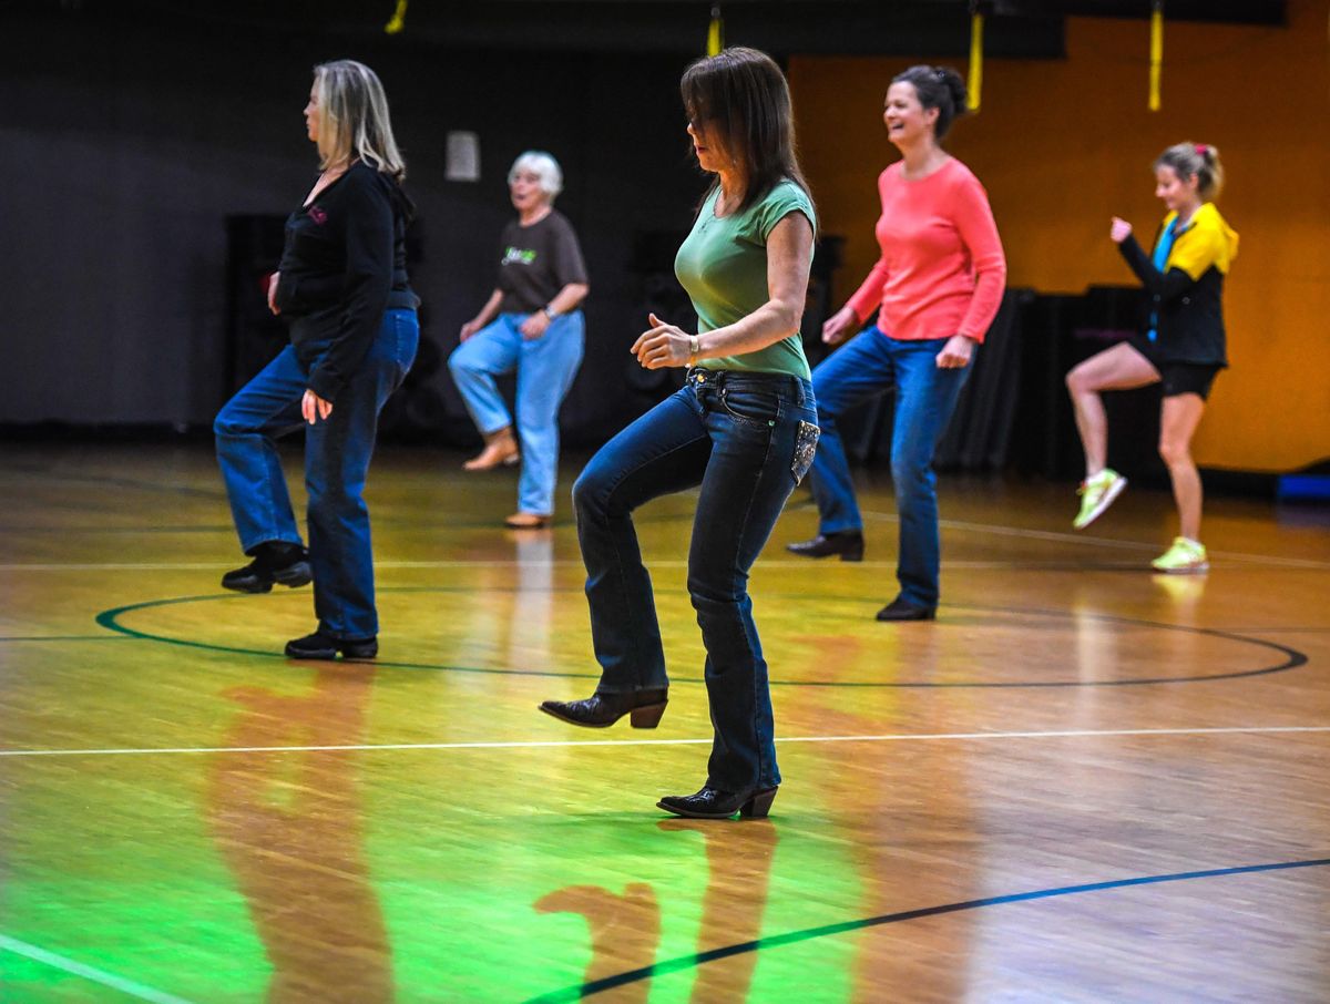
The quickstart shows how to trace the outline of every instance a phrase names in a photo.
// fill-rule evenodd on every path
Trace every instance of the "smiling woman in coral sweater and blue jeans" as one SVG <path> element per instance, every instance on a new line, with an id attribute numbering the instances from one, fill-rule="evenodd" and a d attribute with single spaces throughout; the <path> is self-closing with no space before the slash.
<path id="1" fill-rule="evenodd" d="M 952 69 L 911 66 L 891 81 L 883 121 L 902 160 L 878 178 L 882 258 L 823 324 L 822 340 L 839 344 L 875 310 L 878 320 L 813 372 L 822 426 L 811 471 L 819 525 L 813 540 L 789 548 L 805 557 L 863 557 L 863 519 L 837 416 L 888 390 L 896 394 L 891 475 L 900 592 L 878 612 L 879 621 L 935 616 L 940 545 L 932 456 L 1007 281 L 988 197 L 940 145 L 964 112 L 966 85 Z"/>

